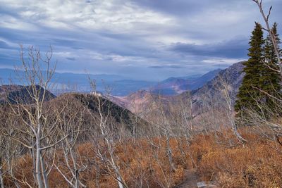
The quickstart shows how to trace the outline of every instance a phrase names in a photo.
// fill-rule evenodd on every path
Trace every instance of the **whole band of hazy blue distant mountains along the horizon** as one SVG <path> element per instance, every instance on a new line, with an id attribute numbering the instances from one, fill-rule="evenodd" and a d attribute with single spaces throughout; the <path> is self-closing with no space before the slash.
<path id="1" fill-rule="evenodd" d="M 198 89 L 204 83 L 212 80 L 219 73 L 213 70 L 205 75 L 191 75 L 186 77 L 169 77 L 161 82 L 132 80 L 120 75 L 87 75 L 75 73 L 54 73 L 52 82 L 55 87 L 51 90 L 56 95 L 64 92 L 91 92 L 90 80 L 95 80 L 96 90 L 102 93 L 109 92 L 113 96 L 127 96 L 140 89 L 149 91 L 153 94 L 177 95 L 182 92 Z M 0 79 L 2 84 L 26 84 L 20 78 L 24 71 L 17 73 L 13 69 L 0 69 Z"/>

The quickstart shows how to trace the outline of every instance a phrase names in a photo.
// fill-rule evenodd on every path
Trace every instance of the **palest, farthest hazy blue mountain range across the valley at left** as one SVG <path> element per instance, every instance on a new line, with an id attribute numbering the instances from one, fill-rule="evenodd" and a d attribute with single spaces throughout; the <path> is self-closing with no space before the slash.
<path id="1" fill-rule="evenodd" d="M 15 72 L 13 69 L 0 68 L 0 83 L 2 84 L 25 84 L 21 77 L 24 71 Z M 111 92 L 116 96 L 125 96 L 139 89 L 154 86 L 157 82 L 143 80 L 131 80 L 121 75 L 91 75 L 76 73 L 54 73 L 52 82 L 55 87 L 51 90 L 56 95 L 63 92 L 85 92 L 89 93 L 93 89 L 90 87 L 90 80 L 95 80 L 96 90 L 99 92 Z M 109 90 L 109 91 L 108 91 Z"/>

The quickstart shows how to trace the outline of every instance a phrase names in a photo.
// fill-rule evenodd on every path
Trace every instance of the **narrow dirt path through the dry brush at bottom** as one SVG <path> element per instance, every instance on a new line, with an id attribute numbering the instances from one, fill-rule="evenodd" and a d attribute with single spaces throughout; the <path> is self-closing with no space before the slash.
<path id="1" fill-rule="evenodd" d="M 197 170 L 187 170 L 185 175 L 185 180 L 178 184 L 174 188 L 195 188 L 197 187 L 197 182 L 200 182 L 200 176 L 197 175 Z"/>

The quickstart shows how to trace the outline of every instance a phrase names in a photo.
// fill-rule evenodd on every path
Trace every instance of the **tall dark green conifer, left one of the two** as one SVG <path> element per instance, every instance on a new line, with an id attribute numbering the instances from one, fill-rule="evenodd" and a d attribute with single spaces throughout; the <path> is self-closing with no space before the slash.
<path id="1" fill-rule="evenodd" d="M 262 88 L 263 80 L 262 73 L 264 72 L 264 57 L 263 57 L 263 37 L 262 25 L 255 23 L 255 29 L 252 31 L 252 36 L 250 38 L 250 57 L 248 61 L 243 63 L 245 68 L 245 76 L 243 82 L 239 88 L 238 99 L 235 103 L 235 111 L 244 114 L 245 109 L 251 109 L 252 111 L 259 112 L 259 106 L 257 106 L 257 101 L 263 99 L 262 92 L 259 89 Z"/>

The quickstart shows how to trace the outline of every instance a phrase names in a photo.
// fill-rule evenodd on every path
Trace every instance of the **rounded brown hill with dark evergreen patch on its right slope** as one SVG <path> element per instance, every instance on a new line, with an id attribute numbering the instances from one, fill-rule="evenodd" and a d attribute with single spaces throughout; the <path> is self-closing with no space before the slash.
<path id="1" fill-rule="evenodd" d="M 73 109 L 73 111 L 83 111 L 85 115 L 84 122 L 90 124 L 89 126 L 99 126 L 101 120 L 99 111 L 101 111 L 104 120 L 107 119 L 106 125 L 114 130 L 124 129 L 130 133 L 140 133 L 149 130 L 149 124 L 145 120 L 138 118 L 128 109 L 114 104 L 104 96 L 78 93 L 62 94 L 48 103 L 53 104 L 55 108 L 67 106 L 67 108 Z M 100 107 L 99 104 L 101 104 Z M 88 110 L 84 111 L 83 108 Z"/>

